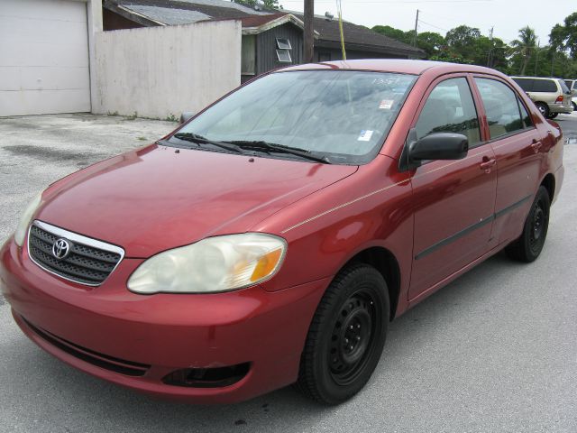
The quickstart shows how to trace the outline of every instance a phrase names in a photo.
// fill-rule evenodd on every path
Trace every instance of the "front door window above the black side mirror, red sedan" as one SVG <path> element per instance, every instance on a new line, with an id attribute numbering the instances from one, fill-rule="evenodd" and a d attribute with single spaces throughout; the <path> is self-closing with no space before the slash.
<path id="1" fill-rule="evenodd" d="M 434 133 L 463 134 L 469 146 L 481 141 L 479 119 L 466 78 L 449 78 L 437 84 L 418 117 L 417 138 Z"/>

